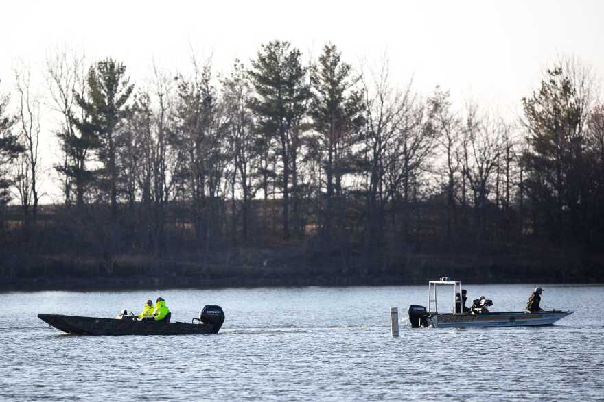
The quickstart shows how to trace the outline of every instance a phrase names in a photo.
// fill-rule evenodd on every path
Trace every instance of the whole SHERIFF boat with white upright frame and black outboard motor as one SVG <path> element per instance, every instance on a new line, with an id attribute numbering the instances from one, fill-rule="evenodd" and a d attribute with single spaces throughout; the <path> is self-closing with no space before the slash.
<path id="1" fill-rule="evenodd" d="M 437 289 L 449 288 L 452 298 L 445 305 L 452 306 L 451 312 L 439 312 Z M 421 305 L 409 307 L 409 321 L 412 327 L 465 328 L 465 327 L 521 327 L 552 325 L 560 318 L 572 314 L 570 310 L 542 310 L 539 312 L 488 312 L 486 308 L 471 312 L 458 312 L 456 294 L 461 295 L 461 282 L 450 281 L 448 277 L 440 281 L 428 282 L 428 309 Z M 448 297 L 446 297 L 448 299 Z M 487 301 L 489 303 L 490 301 Z M 492 305 L 486 304 L 486 305 Z M 448 310 L 448 308 L 447 308 Z"/>

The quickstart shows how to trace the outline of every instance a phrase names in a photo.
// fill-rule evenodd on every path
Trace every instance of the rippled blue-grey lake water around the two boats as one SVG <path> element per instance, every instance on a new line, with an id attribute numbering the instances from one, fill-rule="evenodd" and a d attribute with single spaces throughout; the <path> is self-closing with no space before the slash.
<path id="1" fill-rule="evenodd" d="M 427 305 L 428 286 L 1 294 L 0 399 L 604 399 L 604 287 L 543 286 L 550 327 L 410 329 L 389 307 Z M 469 285 L 491 311 L 522 310 L 529 285 Z M 161 296 L 172 321 L 205 304 L 205 336 L 70 336 L 36 314 L 113 317 Z"/>

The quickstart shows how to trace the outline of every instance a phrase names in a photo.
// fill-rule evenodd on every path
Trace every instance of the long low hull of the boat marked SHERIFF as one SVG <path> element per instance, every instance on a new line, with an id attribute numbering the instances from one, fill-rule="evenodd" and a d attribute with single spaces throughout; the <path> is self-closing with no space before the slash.
<path id="1" fill-rule="evenodd" d="M 560 318 L 564 318 L 569 314 L 572 314 L 572 311 L 434 314 L 431 319 L 431 325 L 435 328 L 533 327 L 538 325 L 553 325 Z"/>

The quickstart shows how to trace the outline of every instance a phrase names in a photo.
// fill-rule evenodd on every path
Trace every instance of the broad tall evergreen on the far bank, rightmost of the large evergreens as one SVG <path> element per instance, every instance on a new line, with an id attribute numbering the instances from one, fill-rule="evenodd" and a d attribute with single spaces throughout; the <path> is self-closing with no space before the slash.
<path id="1" fill-rule="evenodd" d="M 568 71 L 557 65 L 546 72 L 539 90 L 522 99 L 530 145 L 523 155 L 529 175 L 526 189 L 538 215 L 545 223 L 553 221 L 551 233 L 557 242 L 564 238 L 566 211 L 577 234 L 580 200 L 585 200 L 584 105 L 578 97 Z"/>

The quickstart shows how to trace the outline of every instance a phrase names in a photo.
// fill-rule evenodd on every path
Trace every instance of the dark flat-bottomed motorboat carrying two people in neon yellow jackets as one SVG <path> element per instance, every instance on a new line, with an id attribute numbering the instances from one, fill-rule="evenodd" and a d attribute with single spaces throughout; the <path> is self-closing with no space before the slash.
<path id="1" fill-rule="evenodd" d="M 40 320 L 68 334 L 79 335 L 192 335 L 216 334 L 224 322 L 218 305 L 207 305 L 191 323 L 169 321 L 138 321 L 132 316 L 97 318 L 38 314 Z M 194 323 L 197 321 L 197 323 Z"/>

